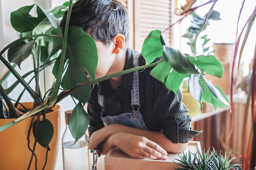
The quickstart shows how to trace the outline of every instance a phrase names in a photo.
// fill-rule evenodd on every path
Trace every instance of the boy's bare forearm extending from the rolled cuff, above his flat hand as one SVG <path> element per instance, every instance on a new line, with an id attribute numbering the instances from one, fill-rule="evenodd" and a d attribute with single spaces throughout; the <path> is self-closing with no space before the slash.
<path id="1" fill-rule="evenodd" d="M 108 127 L 108 126 L 107 126 Z M 151 141 L 154 141 L 155 143 L 159 144 L 164 148 L 167 152 L 172 153 L 180 153 L 182 150 L 185 150 L 187 147 L 186 144 L 173 144 L 162 132 L 155 132 L 155 131 L 149 131 L 149 130 L 142 130 L 137 128 L 132 128 L 129 126 L 124 126 L 121 124 L 111 124 L 109 125 L 109 132 L 111 134 L 117 133 L 117 132 L 127 132 L 134 135 L 139 135 L 146 137 L 150 139 Z M 107 144 L 107 146 L 111 146 L 110 144 Z M 113 147 L 113 146 L 111 146 Z"/>

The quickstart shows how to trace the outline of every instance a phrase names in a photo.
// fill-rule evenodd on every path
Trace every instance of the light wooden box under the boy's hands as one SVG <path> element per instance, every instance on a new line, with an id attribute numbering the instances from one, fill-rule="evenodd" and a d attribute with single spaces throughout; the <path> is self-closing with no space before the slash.
<path id="1" fill-rule="evenodd" d="M 199 141 L 190 141 L 189 147 L 184 152 L 196 153 L 197 148 L 201 150 Z M 181 153 L 182 154 L 182 153 Z M 110 150 L 105 156 L 105 170 L 175 170 L 181 166 L 173 162 L 173 159 L 180 159 L 178 155 L 169 153 L 168 160 L 136 159 L 126 155 L 119 148 Z"/>

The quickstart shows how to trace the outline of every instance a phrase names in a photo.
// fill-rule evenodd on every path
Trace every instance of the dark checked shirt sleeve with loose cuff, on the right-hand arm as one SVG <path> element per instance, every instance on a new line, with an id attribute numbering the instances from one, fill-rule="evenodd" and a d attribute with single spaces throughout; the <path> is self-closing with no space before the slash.
<path id="1" fill-rule="evenodd" d="M 162 132 L 173 143 L 187 143 L 201 131 L 192 130 L 191 117 L 188 110 L 182 103 L 182 93 L 177 94 L 162 86 L 156 99 L 157 110 L 160 110 L 158 117 L 162 124 Z"/>

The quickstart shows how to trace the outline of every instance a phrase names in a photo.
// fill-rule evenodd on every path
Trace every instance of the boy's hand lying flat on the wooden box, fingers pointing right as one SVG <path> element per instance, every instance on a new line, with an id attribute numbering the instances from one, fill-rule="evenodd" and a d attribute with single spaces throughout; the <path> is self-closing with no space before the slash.
<path id="1" fill-rule="evenodd" d="M 167 152 L 158 144 L 146 137 L 126 132 L 117 132 L 109 137 L 115 146 L 127 155 L 137 159 L 163 159 L 167 160 Z"/>

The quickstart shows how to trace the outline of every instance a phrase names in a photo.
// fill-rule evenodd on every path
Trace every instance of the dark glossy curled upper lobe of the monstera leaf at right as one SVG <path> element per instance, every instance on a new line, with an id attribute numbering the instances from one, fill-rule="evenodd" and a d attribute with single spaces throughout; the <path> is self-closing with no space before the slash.
<path id="1" fill-rule="evenodd" d="M 164 45 L 164 60 L 170 64 L 175 71 L 182 74 L 198 74 L 199 72 L 189 61 L 187 55 L 173 49 L 171 46 Z"/>

